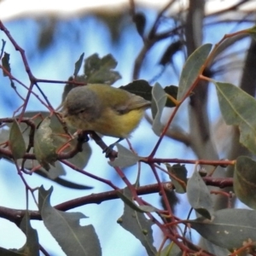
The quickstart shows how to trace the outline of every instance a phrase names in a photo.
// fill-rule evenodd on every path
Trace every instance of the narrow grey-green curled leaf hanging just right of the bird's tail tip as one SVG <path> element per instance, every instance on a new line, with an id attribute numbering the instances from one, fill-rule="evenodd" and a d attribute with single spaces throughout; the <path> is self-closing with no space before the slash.
<path id="1" fill-rule="evenodd" d="M 163 125 L 161 124 L 161 115 L 163 112 L 163 109 L 166 106 L 166 92 L 163 90 L 163 88 L 160 86 L 160 84 L 156 83 L 154 84 L 154 87 L 152 89 L 152 116 L 154 118 L 154 122 L 152 125 L 152 129 L 154 133 L 157 136 L 160 136 Z"/>

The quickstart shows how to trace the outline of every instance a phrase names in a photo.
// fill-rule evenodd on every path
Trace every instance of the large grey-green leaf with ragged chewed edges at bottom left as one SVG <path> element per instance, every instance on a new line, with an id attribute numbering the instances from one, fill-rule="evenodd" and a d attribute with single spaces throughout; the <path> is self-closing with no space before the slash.
<path id="1" fill-rule="evenodd" d="M 90 224 L 80 226 L 79 220 L 85 218 L 81 212 L 61 212 L 50 206 L 52 188 L 39 189 L 39 211 L 45 227 L 67 255 L 100 256 L 102 249 L 94 227 Z"/>

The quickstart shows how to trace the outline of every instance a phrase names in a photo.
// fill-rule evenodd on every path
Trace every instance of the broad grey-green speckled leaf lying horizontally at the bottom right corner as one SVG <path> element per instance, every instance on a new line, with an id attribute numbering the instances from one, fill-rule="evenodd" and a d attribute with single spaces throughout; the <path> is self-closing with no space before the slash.
<path id="1" fill-rule="evenodd" d="M 214 212 L 212 219 L 190 220 L 191 228 L 219 247 L 240 248 L 246 241 L 256 241 L 256 211 L 224 209 Z"/>

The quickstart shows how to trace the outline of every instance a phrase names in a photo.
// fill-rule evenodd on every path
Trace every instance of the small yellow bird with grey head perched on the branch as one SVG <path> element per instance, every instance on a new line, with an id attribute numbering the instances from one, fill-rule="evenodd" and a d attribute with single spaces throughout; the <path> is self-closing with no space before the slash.
<path id="1" fill-rule="evenodd" d="M 70 90 L 62 113 L 67 125 L 119 137 L 119 142 L 137 128 L 150 106 L 151 102 L 126 90 L 108 84 L 88 84 Z"/>

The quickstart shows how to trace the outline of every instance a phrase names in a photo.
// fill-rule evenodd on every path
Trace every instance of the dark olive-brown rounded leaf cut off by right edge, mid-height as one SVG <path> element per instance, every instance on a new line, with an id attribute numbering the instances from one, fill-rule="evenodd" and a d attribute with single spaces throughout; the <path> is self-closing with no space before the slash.
<path id="1" fill-rule="evenodd" d="M 247 156 L 239 156 L 234 172 L 236 196 L 248 207 L 256 209 L 256 162 Z"/>

